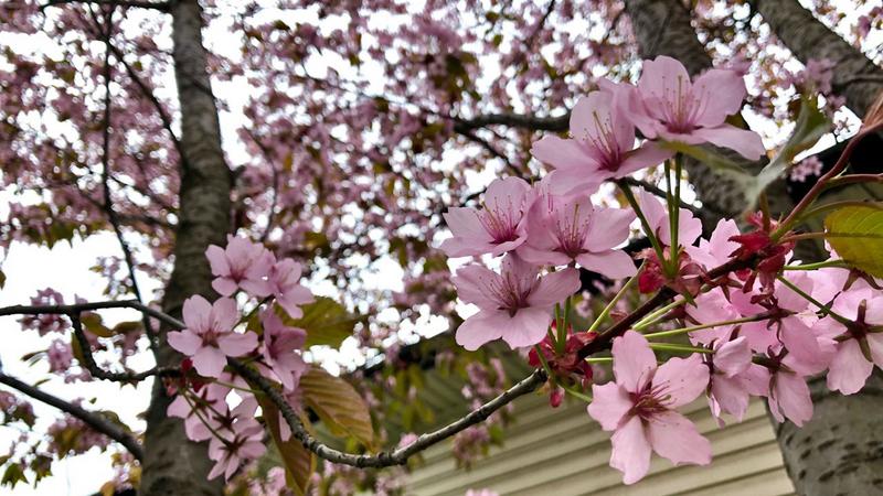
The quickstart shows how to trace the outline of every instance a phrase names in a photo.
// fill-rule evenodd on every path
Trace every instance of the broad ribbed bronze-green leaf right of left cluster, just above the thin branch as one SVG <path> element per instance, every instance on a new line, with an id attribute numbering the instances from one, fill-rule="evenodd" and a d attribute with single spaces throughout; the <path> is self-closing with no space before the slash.
<path id="1" fill-rule="evenodd" d="M 368 405 L 352 385 L 312 366 L 300 377 L 300 391 L 332 434 L 349 435 L 368 448 L 373 446 L 374 427 Z"/>

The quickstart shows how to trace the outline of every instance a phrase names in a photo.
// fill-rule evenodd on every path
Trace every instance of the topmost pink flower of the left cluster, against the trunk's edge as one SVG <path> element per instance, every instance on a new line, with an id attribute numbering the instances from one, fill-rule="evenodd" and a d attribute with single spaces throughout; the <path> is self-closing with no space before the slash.
<path id="1" fill-rule="evenodd" d="M 205 257 L 212 266 L 212 288 L 222 296 L 230 296 L 242 288 L 258 298 L 270 293 L 266 277 L 275 261 L 273 254 L 262 245 L 245 238 L 227 236 L 226 248 L 211 245 Z"/>

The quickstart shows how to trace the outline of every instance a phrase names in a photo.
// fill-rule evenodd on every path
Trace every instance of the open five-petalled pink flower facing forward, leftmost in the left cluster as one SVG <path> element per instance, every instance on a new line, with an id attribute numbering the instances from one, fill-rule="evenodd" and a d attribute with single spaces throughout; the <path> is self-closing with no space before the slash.
<path id="1" fill-rule="evenodd" d="M 193 366 L 202 376 L 219 377 L 228 356 L 242 356 L 257 347 L 256 334 L 233 332 L 240 312 L 228 298 L 209 303 L 199 294 L 190 296 L 183 314 L 187 328 L 169 333 L 169 344 L 193 357 Z"/>

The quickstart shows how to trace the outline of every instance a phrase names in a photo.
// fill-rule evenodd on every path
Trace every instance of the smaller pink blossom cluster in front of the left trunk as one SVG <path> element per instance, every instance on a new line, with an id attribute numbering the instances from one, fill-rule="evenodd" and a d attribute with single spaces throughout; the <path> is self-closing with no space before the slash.
<path id="1" fill-rule="evenodd" d="M 225 370 L 227 359 L 247 358 L 264 377 L 280 385 L 291 405 L 299 405 L 297 386 L 307 369 L 301 355 L 306 332 L 285 319 L 302 316 L 300 305 L 313 299 L 300 284 L 300 265 L 291 259 L 277 261 L 259 244 L 231 236 L 226 248 L 211 246 L 205 255 L 215 276 L 212 287 L 222 296 L 211 303 L 201 295 L 187 299 L 185 327 L 168 334 L 169 344 L 187 356 L 183 381 L 171 385 L 179 395 L 168 412 L 185 419 L 189 439 L 209 441 L 209 456 L 215 461 L 210 478 L 223 474 L 230 479 L 241 465 L 260 456 L 265 446 L 264 427 L 255 420 L 257 400 L 247 392 L 244 379 Z M 241 302 L 252 305 L 249 313 L 231 298 L 237 292 L 244 293 Z M 253 328 L 255 320 L 249 322 L 252 314 L 260 333 Z M 199 377 L 190 374 L 191 368 Z M 233 408 L 232 397 L 238 400 Z M 290 432 L 283 429 L 283 436 Z"/>

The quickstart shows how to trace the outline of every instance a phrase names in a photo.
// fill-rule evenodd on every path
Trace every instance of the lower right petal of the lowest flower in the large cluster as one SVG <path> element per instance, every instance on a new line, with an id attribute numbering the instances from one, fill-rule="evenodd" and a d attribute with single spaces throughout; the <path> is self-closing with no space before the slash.
<path id="1" fill-rule="evenodd" d="M 650 418 L 647 428 L 650 445 L 663 459 L 675 465 L 711 463 L 711 443 L 696 427 L 675 411 L 666 411 Z"/>

